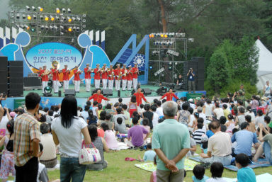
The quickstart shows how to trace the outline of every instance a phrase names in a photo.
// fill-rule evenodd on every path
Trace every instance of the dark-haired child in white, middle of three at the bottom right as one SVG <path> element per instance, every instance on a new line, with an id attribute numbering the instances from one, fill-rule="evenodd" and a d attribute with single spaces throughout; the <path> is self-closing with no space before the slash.
<path id="1" fill-rule="evenodd" d="M 210 173 L 212 174 L 211 178 L 208 178 L 206 182 L 227 182 L 222 178 L 224 171 L 224 166 L 221 162 L 214 162 L 210 166 Z"/>

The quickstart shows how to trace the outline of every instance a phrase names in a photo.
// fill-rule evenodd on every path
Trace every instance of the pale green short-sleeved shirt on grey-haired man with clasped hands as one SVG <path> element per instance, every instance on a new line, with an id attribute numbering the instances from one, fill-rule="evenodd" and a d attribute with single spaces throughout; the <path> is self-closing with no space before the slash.
<path id="1" fill-rule="evenodd" d="M 161 149 L 167 159 L 174 159 L 182 149 L 190 149 L 188 127 L 174 119 L 166 119 L 154 127 L 152 149 Z M 184 169 L 184 159 L 176 163 L 178 169 Z M 169 171 L 157 156 L 157 169 Z"/>

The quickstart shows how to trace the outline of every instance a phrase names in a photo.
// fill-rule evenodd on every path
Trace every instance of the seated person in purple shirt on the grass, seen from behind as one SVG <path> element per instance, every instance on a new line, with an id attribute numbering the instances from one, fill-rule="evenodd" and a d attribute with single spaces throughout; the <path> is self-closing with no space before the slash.
<path id="1" fill-rule="evenodd" d="M 125 143 L 128 147 L 141 147 L 145 145 L 149 132 L 145 127 L 138 125 L 138 118 L 132 118 L 133 127 L 128 130 L 128 138 L 125 138 Z M 143 135 L 147 134 L 144 138 Z"/>

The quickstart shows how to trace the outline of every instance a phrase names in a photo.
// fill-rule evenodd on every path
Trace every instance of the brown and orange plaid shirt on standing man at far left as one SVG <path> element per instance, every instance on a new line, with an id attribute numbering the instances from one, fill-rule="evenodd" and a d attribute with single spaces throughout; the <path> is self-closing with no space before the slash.
<path id="1" fill-rule="evenodd" d="M 14 123 L 14 161 L 16 166 L 25 165 L 33 157 L 32 140 L 40 140 L 38 121 L 30 113 L 19 115 Z"/>

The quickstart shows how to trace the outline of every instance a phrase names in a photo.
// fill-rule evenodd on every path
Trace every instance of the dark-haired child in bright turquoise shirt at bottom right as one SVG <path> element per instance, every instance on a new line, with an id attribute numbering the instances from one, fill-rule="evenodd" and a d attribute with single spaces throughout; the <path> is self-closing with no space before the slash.
<path id="1" fill-rule="evenodd" d="M 254 171 L 248 166 L 249 157 L 246 154 L 237 154 L 235 164 L 239 169 L 237 172 L 237 181 L 239 182 L 256 182 Z"/>

